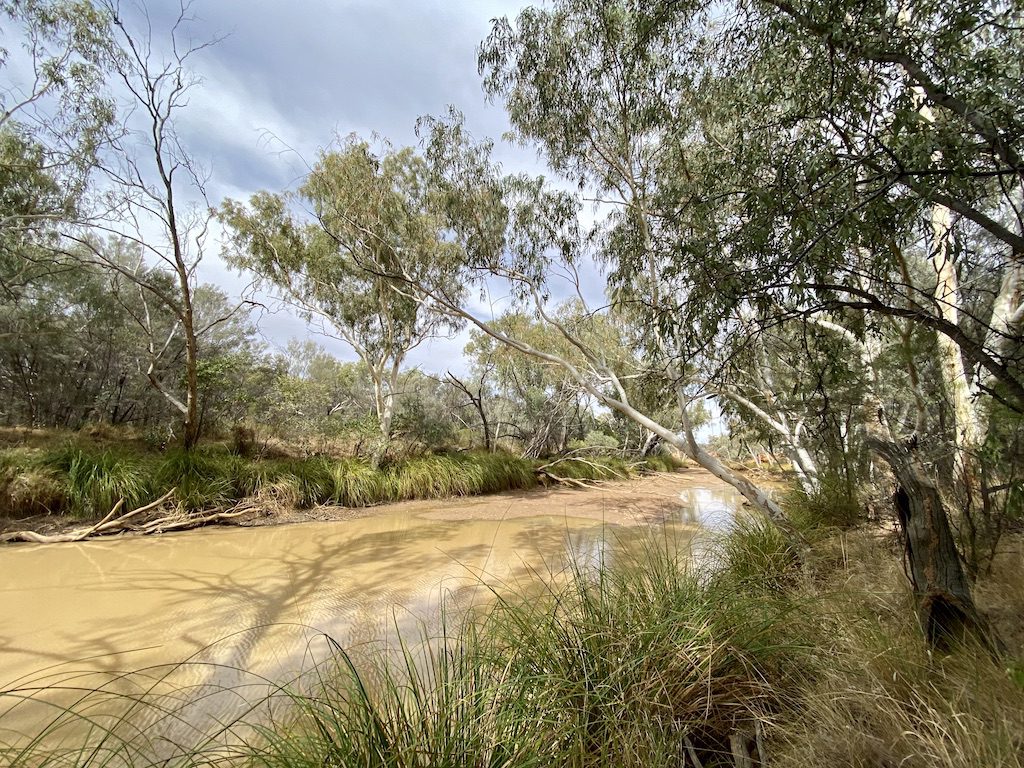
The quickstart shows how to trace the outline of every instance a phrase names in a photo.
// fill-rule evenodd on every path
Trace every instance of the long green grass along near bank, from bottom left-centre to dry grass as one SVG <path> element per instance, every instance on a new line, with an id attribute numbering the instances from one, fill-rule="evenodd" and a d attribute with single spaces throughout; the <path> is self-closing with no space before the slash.
<path id="1" fill-rule="evenodd" d="M 340 656 L 256 762 L 678 765 L 685 736 L 714 765 L 798 666 L 779 605 L 709 589 L 664 546 L 578 568 L 370 675 Z"/>

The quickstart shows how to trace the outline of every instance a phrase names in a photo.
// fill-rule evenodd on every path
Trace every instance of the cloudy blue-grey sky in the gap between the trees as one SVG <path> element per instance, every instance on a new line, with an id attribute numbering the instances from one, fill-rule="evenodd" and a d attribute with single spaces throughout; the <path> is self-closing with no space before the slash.
<path id="1" fill-rule="evenodd" d="M 415 144 L 424 115 L 455 105 L 477 137 L 499 141 L 508 171 L 543 172 L 536 152 L 501 142 L 509 130 L 503 106 L 488 103 L 476 49 L 492 19 L 525 5 L 511 0 L 196 0 L 189 34 L 216 39 L 193 60 L 201 83 L 177 130 L 210 174 L 212 205 L 245 200 L 259 189 L 301 182 L 303 169 L 335 137 L 378 134 L 395 145 Z M 177 2 L 150 0 L 155 37 L 176 14 Z M 219 234 L 218 234 L 219 238 Z M 249 280 L 209 249 L 200 279 L 239 295 Z M 264 311 L 260 330 L 272 347 L 309 335 L 287 311 Z M 315 337 L 332 353 L 354 359 L 342 342 Z M 432 372 L 465 371 L 463 332 L 415 349 L 410 365 Z"/>

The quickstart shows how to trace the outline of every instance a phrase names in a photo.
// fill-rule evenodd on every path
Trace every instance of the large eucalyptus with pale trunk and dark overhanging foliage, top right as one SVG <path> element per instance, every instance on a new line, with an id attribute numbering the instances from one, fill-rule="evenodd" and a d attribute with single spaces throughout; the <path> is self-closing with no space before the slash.
<path id="1" fill-rule="evenodd" d="M 746 3 L 703 91 L 726 147 L 711 186 L 731 187 L 716 205 L 741 212 L 723 221 L 714 280 L 934 334 L 961 475 L 993 398 L 1024 407 L 1019 16 Z"/>

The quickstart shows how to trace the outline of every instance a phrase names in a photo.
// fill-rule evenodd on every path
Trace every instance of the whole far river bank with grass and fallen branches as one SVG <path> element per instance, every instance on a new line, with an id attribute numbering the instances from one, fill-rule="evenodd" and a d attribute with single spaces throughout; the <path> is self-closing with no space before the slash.
<path id="1" fill-rule="evenodd" d="M 355 519 L 381 505 L 508 492 L 540 489 L 544 499 L 552 489 L 682 466 L 669 456 L 536 460 L 482 451 L 427 453 L 373 466 L 365 458 L 326 453 L 247 456 L 228 443 L 185 453 L 85 433 L 7 430 L 0 438 L 0 541 L 37 543 L 210 523 Z M 517 506 L 527 498 L 510 499 Z"/>

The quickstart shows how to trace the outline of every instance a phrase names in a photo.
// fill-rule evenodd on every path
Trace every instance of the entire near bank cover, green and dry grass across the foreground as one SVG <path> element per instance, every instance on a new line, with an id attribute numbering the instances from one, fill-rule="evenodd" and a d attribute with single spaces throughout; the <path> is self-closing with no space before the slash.
<path id="1" fill-rule="evenodd" d="M 705 535 L 694 562 L 671 534 L 652 534 L 615 562 L 584 561 L 540 592 L 498 588 L 489 606 L 449 612 L 439 635 L 370 657 L 337 647 L 303 683 L 254 705 L 258 719 L 221 724 L 198 744 L 168 751 L 150 742 L 147 731 L 160 732 L 153 725 L 101 725 L 102 708 L 86 695 L 80 714 L 54 722 L 90 718 L 91 744 L 79 736 L 60 753 L 42 739 L 5 758 L 143 766 L 161 755 L 161 765 L 268 768 L 1024 765 L 1021 537 L 977 582 L 1000 649 L 966 643 L 934 653 L 891 529 L 818 524 L 802 536 L 797 546 L 743 518 L 727 535 Z M 177 718 L 172 705 L 185 698 L 133 694 L 126 703 L 141 722 L 160 723 Z"/>

